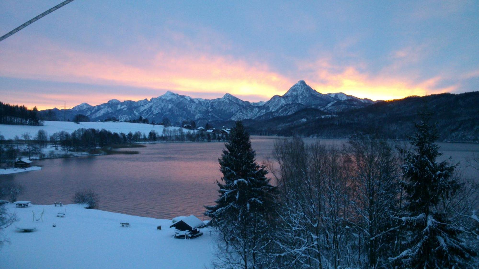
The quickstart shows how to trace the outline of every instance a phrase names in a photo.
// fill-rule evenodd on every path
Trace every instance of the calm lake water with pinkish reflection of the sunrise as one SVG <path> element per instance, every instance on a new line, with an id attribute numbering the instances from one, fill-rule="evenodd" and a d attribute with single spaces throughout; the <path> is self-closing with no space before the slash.
<path id="1" fill-rule="evenodd" d="M 278 137 L 252 136 L 261 163 L 271 156 Z M 306 139 L 341 145 L 341 139 Z M 466 164 L 479 155 L 479 144 L 439 143 L 444 158 Z M 224 143 L 159 143 L 134 148 L 137 155 L 72 157 L 34 161 L 40 171 L 0 176 L 25 186 L 19 200 L 35 204 L 71 203 L 75 191 L 90 188 L 98 193 L 99 209 L 154 218 L 194 214 L 202 218 L 203 205 L 217 199 L 216 180 L 221 178 L 218 157 Z M 468 177 L 478 172 L 465 169 Z M 203 219 L 203 218 L 202 218 Z"/>

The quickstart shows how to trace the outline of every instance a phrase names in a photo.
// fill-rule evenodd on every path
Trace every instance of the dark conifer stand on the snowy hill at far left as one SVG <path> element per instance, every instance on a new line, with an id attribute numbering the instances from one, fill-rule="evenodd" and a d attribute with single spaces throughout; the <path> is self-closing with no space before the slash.
<path id="1" fill-rule="evenodd" d="M 0 102 L 0 124 L 43 125 L 38 119 L 38 110 L 29 110 L 25 106 Z"/>

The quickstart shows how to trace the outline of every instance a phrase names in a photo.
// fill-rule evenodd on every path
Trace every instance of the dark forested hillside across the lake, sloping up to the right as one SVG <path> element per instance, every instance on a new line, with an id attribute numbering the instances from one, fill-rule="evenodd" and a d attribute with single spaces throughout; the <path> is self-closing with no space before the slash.
<path id="1" fill-rule="evenodd" d="M 245 121 L 253 134 L 299 135 L 348 138 L 354 134 L 378 134 L 389 139 L 405 139 L 412 133 L 419 112 L 432 113 L 439 140 L 479 141 L 479 92 L 411 96 L 325 115 L 302 110 L 268 121 Z"/>

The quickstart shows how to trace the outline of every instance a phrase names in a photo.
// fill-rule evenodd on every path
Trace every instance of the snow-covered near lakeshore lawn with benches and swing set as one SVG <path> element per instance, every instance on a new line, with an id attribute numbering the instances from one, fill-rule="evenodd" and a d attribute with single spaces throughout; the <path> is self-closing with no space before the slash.
<path id="1" fill-rule="evenodd" d="M 174 239 L 171 220 L 160 220 L 100 210 L 79 204 L 62 207 L 32 205 L 16 208 L 20 221 L 3 229 L 10 244 L 0 248 L 0 267 L 10 268 L 209 268 L 215 234 L 192 239 Z M 65 212 L 65 217 L 57 213 Z M 44 211 L 43 222 L 34 221 Z M 122 227 L 120 222 L 130 223 Z M 56 224 L 56 227 L 53 227 Z M 161 230 L 157 226 L 161 225 Z M 17 227 L 34 226 L 32 232 Z"/>

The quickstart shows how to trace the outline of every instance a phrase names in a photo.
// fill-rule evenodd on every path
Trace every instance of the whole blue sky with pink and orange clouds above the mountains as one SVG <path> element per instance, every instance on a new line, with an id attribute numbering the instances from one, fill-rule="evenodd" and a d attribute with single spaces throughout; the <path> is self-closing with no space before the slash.
<path id="1" fill-rule="evenodd" d="M 0 1 L 0 35 L 60 2 Z M 478 44 L 477 0 L 75 0 L 0 42 L 0 101 L 267 101 L 301 79 L 372 100 L 461 93 L 479 90 Z"/>

